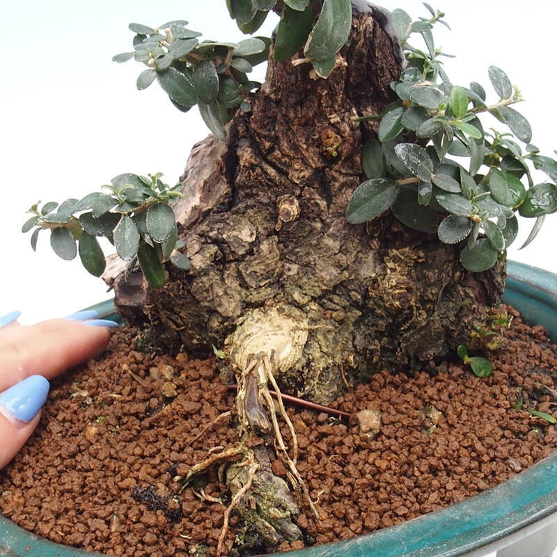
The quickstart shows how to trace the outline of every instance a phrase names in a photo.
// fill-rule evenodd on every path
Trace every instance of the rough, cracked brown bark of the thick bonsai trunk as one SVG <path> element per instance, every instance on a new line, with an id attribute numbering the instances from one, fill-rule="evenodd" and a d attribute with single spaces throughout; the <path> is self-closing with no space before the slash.
<path id="1" fill-rule="evenodd" d="M 354 117 L 386 107 L 400 56 L 370 14 L 354 16 L 340 54 L 345 64 L 329 79 L 315 79 L 310 64 L 271 59 L 228 141 L 210 136 L 194 148 L 175 206 L 191 272 L 168 266 L 159 290 L 116 279 L 123 315 L 148 317 L 156 342 L 175 349 L 230 352 L 254 311 L 274 308 L 254 330 L 276 315 L 301 315 L 303 353 L 276 379 L 283 391 L 323 403 L 342 391 L 341 371 L 363 379 L 445 356 L 499 300 L 504 275 L 503 263 L 467 272 L 460 246 L 390 213 L 367 226 L 346 221 L 362 180 L 361 143 L 375 133 Z"/>

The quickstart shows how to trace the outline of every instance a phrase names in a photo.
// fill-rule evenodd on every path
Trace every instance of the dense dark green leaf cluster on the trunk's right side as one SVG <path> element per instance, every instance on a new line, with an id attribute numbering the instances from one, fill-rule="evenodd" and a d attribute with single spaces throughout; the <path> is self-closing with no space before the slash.
<path id="1" fill-rule="evenodd" d="M 446 244 L 462 242 L 462 265 L 481 272 L 515 240 L 516 212 L 537 219 L 526 245 L 544 217 L 557 211 L 557 161 L 530 144 L 528 120 L 510 107 L 521 95 L 503 70 L 488 71 L 497 96 L 493 104 L 475 81 L 469 87 L 450 82 L 432 36 L 444 14 L 424 6 L 431 17 L 416 22 L 404 10 L 393 11 L 409 65 L 391 84 L 398 100 L 380 115 L 377 139 L 363 146 L 362 167 L 370 180 L 354 191 L 346 217 L 361 223 L 390 208 L 406 226 L 437 232 Z M 425 49 L 408 44 L 412 33 L 421 36 Z M 485 131 L 484 115 L 508 130 Z M 532 167 L 551 182 L 535 184 Z"/>

